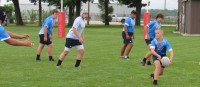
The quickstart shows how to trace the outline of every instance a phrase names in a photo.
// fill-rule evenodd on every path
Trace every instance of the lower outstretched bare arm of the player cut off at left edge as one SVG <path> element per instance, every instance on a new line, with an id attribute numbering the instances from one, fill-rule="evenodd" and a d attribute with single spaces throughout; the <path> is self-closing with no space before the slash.
<path id="1" fill-rule="evenodd" d="M 13 46 L 31 47 L 33 45 L 33 43 L 29 40 L 18 41 L 16 39 L 12 39 L 12 38 L 5 40 L 5 42 L 8 43 L 9 45 L 13 45 Z"/>

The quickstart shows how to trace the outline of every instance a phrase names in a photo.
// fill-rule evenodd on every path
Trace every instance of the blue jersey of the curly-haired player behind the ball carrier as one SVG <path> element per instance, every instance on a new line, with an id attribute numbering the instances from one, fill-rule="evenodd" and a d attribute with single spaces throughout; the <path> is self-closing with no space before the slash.
<path id="1" fill-rule="evenodd" d="M 157 20 L 151 21 L 148 25 L 148 34 L 151 39 L 155 38 L 155 31 L 160 29 L 161 23 L 158 23 Z"/>

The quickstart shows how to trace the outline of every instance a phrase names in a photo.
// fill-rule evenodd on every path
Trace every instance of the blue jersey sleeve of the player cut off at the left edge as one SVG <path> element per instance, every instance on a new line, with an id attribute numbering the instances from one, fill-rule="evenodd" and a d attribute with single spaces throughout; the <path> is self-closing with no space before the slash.
<path id="1" fill-rule="evenodd" d="M 0 25 L 0 41 L 7 40 L 9 38 L 10 38 L 10 36 L 5 31 L 4 27 Z"/>

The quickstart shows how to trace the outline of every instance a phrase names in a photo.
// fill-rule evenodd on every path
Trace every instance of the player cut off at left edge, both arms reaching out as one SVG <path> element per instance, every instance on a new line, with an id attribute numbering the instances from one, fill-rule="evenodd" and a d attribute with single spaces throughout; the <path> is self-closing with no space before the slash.
<path id="1" fill-rule="evenodd" d="M 0 41 L 5 41 L 7 44 L 13 45 L 13 46 L 31 47 L 33 43 L 30 40 L 28 40 L 29 38 L 28 34 L 18 35 L 10 31 L 6 31 L 4 29 L 3 25 L 6 24 L 5 22 L 6 18 L 7 18 L 6 9 L 0 6 Z M 24 41 L 16 40 L 16 39 L 23 39 L 23 38 L 26 38 L 26 40 Z"/>

